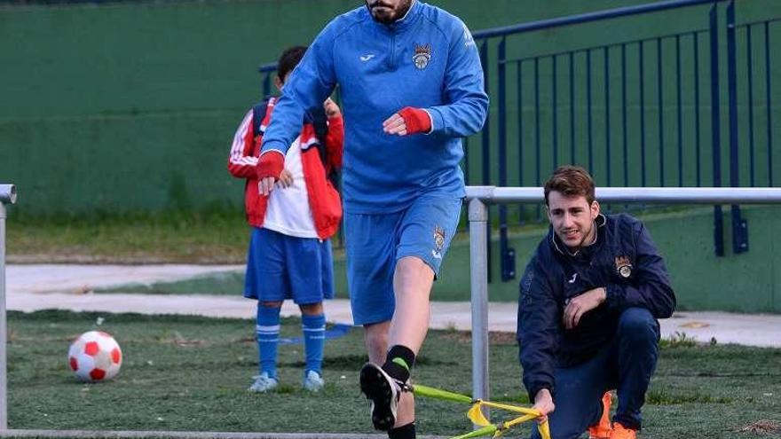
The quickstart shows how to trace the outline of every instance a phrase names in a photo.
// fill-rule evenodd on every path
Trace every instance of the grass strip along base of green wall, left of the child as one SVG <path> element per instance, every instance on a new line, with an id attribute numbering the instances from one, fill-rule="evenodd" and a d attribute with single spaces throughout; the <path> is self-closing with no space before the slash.
<path id="1" fill-rule="evenodd" d="M 241 210 L 25 216 L 11 208 L 11 263 L 244 263 L 249 227 Z"/>

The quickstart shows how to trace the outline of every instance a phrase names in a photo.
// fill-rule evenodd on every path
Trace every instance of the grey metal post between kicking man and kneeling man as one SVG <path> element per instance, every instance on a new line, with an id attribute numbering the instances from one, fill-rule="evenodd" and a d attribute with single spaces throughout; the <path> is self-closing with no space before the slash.
<path id="1" fill-rule="evenodd" d="M 469 200 L 469 278 L 472 300 L 472 398 L 488 399 L 488 208 Z M 485 416 L 488 410 L 483 409 Z"/>

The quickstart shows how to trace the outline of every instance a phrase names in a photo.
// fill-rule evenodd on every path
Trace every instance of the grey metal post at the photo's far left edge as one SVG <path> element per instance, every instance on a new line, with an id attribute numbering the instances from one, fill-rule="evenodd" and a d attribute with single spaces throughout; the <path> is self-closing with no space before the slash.
<path id="1" fill-rule="evenodd" d="M 5 203 L 16 202 L 16 186 L 0 184 L 0 432 L 8 429 L 8 366 L 6 364 L 5 324 Z"/>

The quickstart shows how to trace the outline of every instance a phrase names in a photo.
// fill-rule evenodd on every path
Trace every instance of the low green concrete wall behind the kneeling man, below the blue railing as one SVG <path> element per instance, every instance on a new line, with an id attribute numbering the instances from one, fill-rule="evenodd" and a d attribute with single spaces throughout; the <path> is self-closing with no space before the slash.
<path id="1" fill-rule="evenodd" d="M 781 239 L 767 239 L 767 231 L 777 227 L 781 208 L 744 208 L 748 222 L 749 251 L 731 253 L 730 216 L 724 215 L 724 257 L 713 250 L 713 208 L 641 216 L 651 231 L 675 288 L 678 310 L 725 310 L 735 312 L 781 313 Z M 501 282 L 498 237 L 493 239 L 493 281 L 488 286 L 491 302 L 516 302 L 518 282 L 525 264 L 540 239 L 542 227 L 510 233 L 509 246 L 516 250 L 514 280 Z M 469 241 L 466 233 L 456 238 L 446 255 L 440 278 L 434 284 L 432 300 L 469 301 Z M 335 263 L 336 291 L 347 297 L 345 264 Z"/>

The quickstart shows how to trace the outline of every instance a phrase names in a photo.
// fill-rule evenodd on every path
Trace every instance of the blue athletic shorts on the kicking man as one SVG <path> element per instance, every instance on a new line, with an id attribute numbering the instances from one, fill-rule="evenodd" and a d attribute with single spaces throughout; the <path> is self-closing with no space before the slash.
<path id="1" fill-rule="evenodd" d="M 390 214 L 344 213 L 347 283 L 355 325 L 393 317 L 393 271 L 398 259 L 417 256 L 439 273 L 439 265 L 461 216 L 460 198 L 424 195 Z"/>

